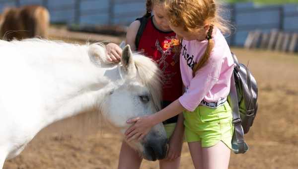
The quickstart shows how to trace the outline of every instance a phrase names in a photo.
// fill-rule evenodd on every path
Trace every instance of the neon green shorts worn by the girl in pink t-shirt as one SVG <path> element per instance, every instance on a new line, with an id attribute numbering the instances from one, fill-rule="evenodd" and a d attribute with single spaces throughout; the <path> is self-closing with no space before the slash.
<path id="1" fill-rule="evenodd" d="M 200 141 L 202 147 L 212 147 L 222 141 L 232 148 L 232 112 L 227 101 L 216 109 L 198 106 L 195 111 L 184 111 L 183 116 L 186 142 Z"/>

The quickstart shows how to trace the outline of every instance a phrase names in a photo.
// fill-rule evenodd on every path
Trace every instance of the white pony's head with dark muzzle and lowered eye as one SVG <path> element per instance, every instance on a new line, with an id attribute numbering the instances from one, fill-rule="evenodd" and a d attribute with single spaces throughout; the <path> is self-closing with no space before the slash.
<path id="1" fill-rule="evenodd" d="M 103 116 L 122 134 L 130 127 L 126 123 L 133 117 L 149 115 L 160 109 L 160 70 L 148 57 L 133 54 L 130 46 L 124 47 L 118 65 L 120 79 L 101 103 Z M 108 72 L 107 72 L 108 74 Z M 163 159 L 166 155 L 166 133 L 163 125 L 152 128 L 143 141 L 129 145 L 147 160 Z"/>

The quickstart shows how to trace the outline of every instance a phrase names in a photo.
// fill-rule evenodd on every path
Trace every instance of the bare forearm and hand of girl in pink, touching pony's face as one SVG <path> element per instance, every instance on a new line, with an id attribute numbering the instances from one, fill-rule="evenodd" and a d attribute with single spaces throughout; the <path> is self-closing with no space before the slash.
<path id="1" fill-rule="evenodd" d="M 180 104 L 179 100 L 175 100 L 164 109 L 148 115 L 130 119 L 127 123 L 135 123 L 129 129 L 126 130 L 125 135 L 128 141 L 134 139 L 143 139 L 151 130 L 154 125 L 169 119 L 184 110 L 184 107 Z"/>

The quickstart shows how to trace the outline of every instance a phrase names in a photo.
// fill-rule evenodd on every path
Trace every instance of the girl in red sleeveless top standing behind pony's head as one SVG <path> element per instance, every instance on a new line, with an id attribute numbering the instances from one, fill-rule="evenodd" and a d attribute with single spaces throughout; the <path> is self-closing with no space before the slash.
<path id="1" fill-rule="evenodd" d="M 126 35 L 126 44 L 133 51 L 140 51 L 155 61 L 163 73 L 162 108 L 182 94 L 179 40 L 165 19 L 164 2 L 165 0 L 147 0 L 147 14 L 144 17 L 148 17 L 148 20 L 139 44 L 136 44 L 136 36 L 141 25 L 140 19 L 144 17 L 131 23 Z M 107 51 L 110 61 L 120 61 L 122 50 L 118 45 L 108 44 Z M 167 119 L 163 124 L 169 139 L 169 152 L 165 160 L 159 160 L 159 166 L 160 169 L 178 169 L 183 143 L 183 114 Z M 141 162 L 142 158 L 138 153 L 123 141 L 118 169 L 139 169 Z"/>

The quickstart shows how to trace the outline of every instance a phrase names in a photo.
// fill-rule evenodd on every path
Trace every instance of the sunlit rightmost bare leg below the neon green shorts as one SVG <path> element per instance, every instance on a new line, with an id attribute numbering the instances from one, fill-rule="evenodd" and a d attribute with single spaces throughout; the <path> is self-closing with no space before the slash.
<path id="1" fill-rule="evenodd" d="M 223 142 L 213 147 L 203 148 L 204 169 L 227 169 L 230 149 Z"/>

